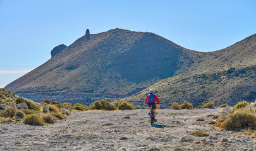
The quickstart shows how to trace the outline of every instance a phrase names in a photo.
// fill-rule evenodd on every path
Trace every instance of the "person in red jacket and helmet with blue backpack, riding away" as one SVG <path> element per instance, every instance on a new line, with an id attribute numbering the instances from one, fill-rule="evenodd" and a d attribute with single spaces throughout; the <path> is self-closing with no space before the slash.
<path id="1" fill-rule="evenodd" d="M 153 108 L 155 121 L 157 121 L 156 120 L 156 112 L 155 112 L 155 109 L 156 109 L 155 100 L 157 101 L 158 104 L 160 104 L 159 99 L 157 98 L 157 96 L 155 94 L 153 94 L 153 90 L 150 89 L 149 95 L 145 99 L 145 104 L 148 104 L 148 106 L 149 106 L 149 115 L 150 115 L 151 108 Z"/>

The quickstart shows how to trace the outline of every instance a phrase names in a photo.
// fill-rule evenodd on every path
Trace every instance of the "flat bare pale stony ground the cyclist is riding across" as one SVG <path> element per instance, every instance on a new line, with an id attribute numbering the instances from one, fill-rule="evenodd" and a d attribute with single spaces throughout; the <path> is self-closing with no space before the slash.
<path id="1" fill-rule="evenodd" d="M 212 120 L 207 115 L 221 111 L 158 109 L 155 126 L 147 109 L 76 111 L 47 126 L 1 123 L 0 150 L 255 150 L 255 138 L 207 124 Z M 205 121 L 197 121 L 200 117 Z M 190 135 L 194 131 L 209 136 Z"/>

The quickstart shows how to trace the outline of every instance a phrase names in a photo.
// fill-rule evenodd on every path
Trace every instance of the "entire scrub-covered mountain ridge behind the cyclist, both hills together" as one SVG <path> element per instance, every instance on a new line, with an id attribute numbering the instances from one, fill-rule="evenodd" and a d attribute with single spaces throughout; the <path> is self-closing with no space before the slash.
<path id="1" fill-rule="evenodd" d="M 142 101 L 149 88 L 166 104 L 256 98 L 256 35 L 204 53 L 154 33 L 88 33 L 5 89 L 35 101 L 88 104 L 101 98 Z"/>

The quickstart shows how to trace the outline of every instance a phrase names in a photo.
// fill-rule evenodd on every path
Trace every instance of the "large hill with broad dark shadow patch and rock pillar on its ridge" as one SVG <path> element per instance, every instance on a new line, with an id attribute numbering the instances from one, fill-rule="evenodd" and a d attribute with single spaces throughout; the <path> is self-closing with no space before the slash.
<path id="1" fill-rule="evenodd" d="M 5 89 L 33 100 L 125 98 L 190 70 L 203 55 L 154 33 L 116 28 L 78 38 Z"/>

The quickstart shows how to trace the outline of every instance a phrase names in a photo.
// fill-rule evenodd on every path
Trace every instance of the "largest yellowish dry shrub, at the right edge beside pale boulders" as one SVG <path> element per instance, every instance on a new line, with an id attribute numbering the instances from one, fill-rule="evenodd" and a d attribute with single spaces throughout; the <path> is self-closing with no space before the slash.
<path id="1" fill-rule="evenodd" d="M 236 111 L 229 114 L 228 120 L 224 121 L 221 128 L 232 130 L 234 128 L 254 127 L 256 126 L 256 116 L 245 110 Z"/>

